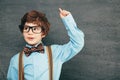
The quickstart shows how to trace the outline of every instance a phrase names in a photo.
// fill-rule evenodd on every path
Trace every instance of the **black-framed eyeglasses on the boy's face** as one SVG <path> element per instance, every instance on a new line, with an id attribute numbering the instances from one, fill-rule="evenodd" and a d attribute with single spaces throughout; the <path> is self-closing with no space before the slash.
<path id="1" fill-rule="evenodd" d="M 39 26 L 26 26 L 26 25 L 23 28 L 23 32 L 28 33 L 30 31 L 30 29 L 35 34 L 39 34 L 42 32 L 42 29 Z"/>

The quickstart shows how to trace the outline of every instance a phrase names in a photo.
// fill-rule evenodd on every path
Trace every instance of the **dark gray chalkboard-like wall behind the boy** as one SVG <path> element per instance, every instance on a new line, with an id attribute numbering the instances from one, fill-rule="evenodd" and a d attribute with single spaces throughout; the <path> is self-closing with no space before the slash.
<path id="1" fill-rule="evenodd" d="M 25 45 L 18 25 L 27 11 L 46 13 L 51 22 L 46 45 L 69 40 L 59 7 L 71 11 L 85 33 L 83 50 L 63 65 L 60 80 L 120 80 L 120 0 L 0 0 L 0 80 Z"/>

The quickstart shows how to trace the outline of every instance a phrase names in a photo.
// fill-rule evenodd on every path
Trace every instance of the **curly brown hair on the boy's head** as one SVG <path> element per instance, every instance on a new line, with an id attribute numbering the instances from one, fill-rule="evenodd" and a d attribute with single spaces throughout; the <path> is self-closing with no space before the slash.
<path id="1" fill-rule="evenodd" d="M 23 28 L 25 23 L 34 23 L 41 27 L 42 32 L 44 35 L 48 34 L 50 23 L 48 22 L 48 19 L 46 18 L 46 15 L 42 12 L 38 12 L 36 10 L 32 10 L 30 12 L 27 12 L 22 18 L 21 18 L 21 24 L 19 25 L 20 31 L 23 32 Z"/>

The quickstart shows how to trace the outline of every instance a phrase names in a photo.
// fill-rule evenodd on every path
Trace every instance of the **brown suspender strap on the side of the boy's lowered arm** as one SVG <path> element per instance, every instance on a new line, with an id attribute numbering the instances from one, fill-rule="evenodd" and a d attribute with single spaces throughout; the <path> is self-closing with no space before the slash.
<path id="1" fill-rule="evenodd" d="M 23 51 L 19 54 L 19 80 L 24 80 Z"/>

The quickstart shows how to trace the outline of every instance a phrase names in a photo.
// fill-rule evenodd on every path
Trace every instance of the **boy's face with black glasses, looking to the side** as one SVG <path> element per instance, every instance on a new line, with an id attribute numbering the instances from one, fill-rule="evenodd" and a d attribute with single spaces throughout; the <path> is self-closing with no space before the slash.
<path id="1" fill-rule="evenodd" d="M 37 24 L 26 22 L 23 29 L 23 37 L 29 45 L 36 45 L 45 35 L 42 34 L 41 28 Z"/>

